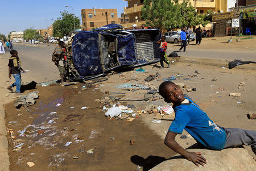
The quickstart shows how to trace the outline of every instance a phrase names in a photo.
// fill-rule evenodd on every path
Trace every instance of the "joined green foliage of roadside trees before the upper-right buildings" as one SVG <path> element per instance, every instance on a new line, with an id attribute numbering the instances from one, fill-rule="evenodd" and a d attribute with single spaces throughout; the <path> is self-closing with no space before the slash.
<path id="1" fill-rule="evenodd" d="M 178 3 L 177 0 L 145 0 L 142 7 L 142 19 L 146 24 L 164 29 L 191 27 L 202 24 L 205 26 L 211 19 L 213 12 L 207 11 L 205 15 L 198 15 L 191 3 L 183 0 Z"/>

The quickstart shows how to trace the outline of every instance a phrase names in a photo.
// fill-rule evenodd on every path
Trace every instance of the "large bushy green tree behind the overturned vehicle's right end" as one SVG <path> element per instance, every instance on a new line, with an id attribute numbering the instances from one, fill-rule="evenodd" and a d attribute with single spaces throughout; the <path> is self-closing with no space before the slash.
<path id="1" fill-rule="evenodd" d="M 177 1 L 172 0 L 145 0 L 142 7 L 142 19 L 151 27 L 164 29 L 177 27 L 177 14 L 179 14 Z"/>

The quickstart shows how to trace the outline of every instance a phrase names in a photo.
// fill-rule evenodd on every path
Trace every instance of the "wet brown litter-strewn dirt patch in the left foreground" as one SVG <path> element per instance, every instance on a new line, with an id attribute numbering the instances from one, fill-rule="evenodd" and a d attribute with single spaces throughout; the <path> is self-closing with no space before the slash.
<path id="1" fill-rule="evenodd" d="M 39 99 L 28 107 L 32 114 L 5 106 L 6 128 L 14 131 L 13 139 L 8 134 L 10 170 L 148 170 L 174 155 L 141 116 L 108 119 L 94 101 L 103 93 L 94 87 L 81 93 L 77 86 L 38 87 Z"/>

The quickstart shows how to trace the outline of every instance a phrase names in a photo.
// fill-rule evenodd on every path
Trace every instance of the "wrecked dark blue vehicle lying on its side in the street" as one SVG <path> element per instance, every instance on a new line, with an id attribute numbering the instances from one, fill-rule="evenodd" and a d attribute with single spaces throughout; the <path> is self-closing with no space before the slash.
<path id="1" fill-rule="evenodd" d="M 73 37 L 73 64 L 87 77 L 158 62 L 161 36 L 158 29 L 123 30 L 118 24 L 80 31 Z"/>

